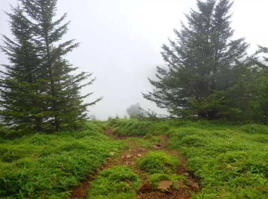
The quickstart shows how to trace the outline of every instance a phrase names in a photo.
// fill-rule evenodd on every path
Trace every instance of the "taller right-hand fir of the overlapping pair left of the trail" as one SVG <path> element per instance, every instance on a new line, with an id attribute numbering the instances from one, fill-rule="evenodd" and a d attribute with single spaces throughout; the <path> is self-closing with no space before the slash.
<path id="1" fill-rule="evenodd" d="M 74 40 L 58 44 L 67 33 L 69 22 L 63 23 L 67 14 L 60 19 L 56 16 L 57 0 L 21 0 L 27 15 L 31 18 L 36 45 L 42 59 L 44 79 L 47 87 L 47 113 L 45 116 L 48 128 L 60 130 L 60 125 L 74 127 L 87 119 L 86 108 L 100 101 L 83 104 L 83 99 L 91 95 L 80 95 L 80 89 L 93 83 L 95 78 L 86 81 L 92 73 L 81 72 L 73 75 L 77 68 L 72 67 L 64 58 L 78 46 Z"/>

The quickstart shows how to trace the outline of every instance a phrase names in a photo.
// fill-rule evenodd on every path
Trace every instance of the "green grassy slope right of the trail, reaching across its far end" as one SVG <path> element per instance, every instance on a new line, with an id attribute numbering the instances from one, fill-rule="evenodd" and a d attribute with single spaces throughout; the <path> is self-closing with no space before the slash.
<path id="1" fill-rule="evenodd" d="M 161 134 L 188 157 L 201 183 L 194 199 L 267 199 L 268 127 L 207 121 L 110 120 L 118 135 Z"/>

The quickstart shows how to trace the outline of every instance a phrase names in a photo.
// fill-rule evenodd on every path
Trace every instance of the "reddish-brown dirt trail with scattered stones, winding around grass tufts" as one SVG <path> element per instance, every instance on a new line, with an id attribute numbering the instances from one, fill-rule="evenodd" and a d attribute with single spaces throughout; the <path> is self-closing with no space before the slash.
<path id="1" fill-rule="evenodd" d="M 180 187 L 178 190 L 170 190 L 170 192 L 161 192 L 157 190 L 147 190 L 146 192 L 137 192 L 137 199 L 191 199 L 191 192 L 198 192 L 199 186 L 194 177 L 188 172 L 186 168 L 186 159 L 183 158 L 178 151 L 167 149 L 167 137 L 164 135 L 158 135 L 155 137 L 159 138 L 159 142 L 152 145 L 151 148 L 147 148 L 145 145 L 137 143 L 134 138 L 128 139 L 129 136 L 114 136 L 113 129 L 105 131 L 105 134 L 113 137 L 114 139 L 125 139 L 128 149 L 124 150 L 121 155 L 117 158 L 107 158 L 105 164 L 103 164 L 94 177 L 87 178 L 83 181 L 79 187 L 76 187 L 72 190 L 72 194 L 69 199 L 87 199 L 87 190 L 90 187 L 90 181 L 93 181 L 98 173 L 104 169 L 107 169 L 112 166 L 118 165 L 127 165 L 130 167 L 139 178 L 145 182 L 147 176 L 144 174 L 144 171 L 141 171 L 137 165 L 136 159 L 141 158 L 148 151 L 158 151 L 163 150 L 169 154 L 176 155 L 180 160 L 180 165 L 177 168 L 177 175 L 184 175 L 187 179 L 185 187 Z M 142 138 L 142 137 L 140 137 Z"/>

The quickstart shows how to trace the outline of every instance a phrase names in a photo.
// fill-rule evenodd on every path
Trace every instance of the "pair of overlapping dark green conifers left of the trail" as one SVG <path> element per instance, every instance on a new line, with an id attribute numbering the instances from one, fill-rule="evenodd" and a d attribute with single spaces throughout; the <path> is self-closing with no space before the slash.
<path id="1" fill-rule="evenodd" d="M 87 80 L 92 73 L 73 74 L 77 67 L 65 59 L 78 46 L 74 40 L 61 43 L 69 24 L 64 23 L 67 14 L 54 19 L 57 0 L 20 0 L 20 4 L 22 8 L 8 14 L 16 41 L 4 37 L 2 47 L 11 65 L 5 66 L 0 81 L 1 115 L 7 124 L 27 120 L 27 126 L 38 131 L 74 127 L 87 119 L 86 108 L 101 98 L 83 103 L 92 93 L 81 95 L 80 89 L 95 78 Z"/>

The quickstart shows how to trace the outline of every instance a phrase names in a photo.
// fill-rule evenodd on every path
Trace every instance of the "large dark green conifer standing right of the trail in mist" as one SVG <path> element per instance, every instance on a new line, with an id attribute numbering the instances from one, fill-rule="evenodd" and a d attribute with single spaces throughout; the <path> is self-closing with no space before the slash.
<path id="1" fill-rule="evenodd" d="M 189 112 L 190 100 L 202 103 L 215 90 L 233 84 L 236 61 L 246 55 L 244 39 L 232 40 L 229 0 L 197 1 L 198 10 L 186 15 L 188 25 L 174 30 L 176 40 L 163 45 L 162 57 L 167 67 L 157 66 L 158 80 L 149 79 L 152 92 L 143 97 L 179 117 L 198 115 L 214 119 L 216 110 Z"/>

